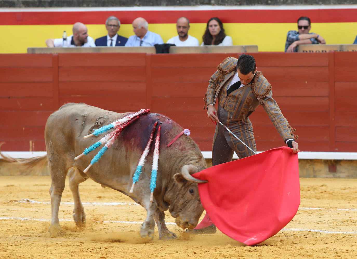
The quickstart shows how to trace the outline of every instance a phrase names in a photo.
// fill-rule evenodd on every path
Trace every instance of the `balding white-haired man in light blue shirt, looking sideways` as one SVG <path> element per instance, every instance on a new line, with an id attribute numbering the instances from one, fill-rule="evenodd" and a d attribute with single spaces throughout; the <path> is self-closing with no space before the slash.
<path id="1" fill-rule="evenodd" d="M 155 44 L 164 44 L 159 34 L 148 30 L 149 24 L 144 18 L 136 18 L 132 26 L 135 35 L 129 37 L 125 46 L 154 46 Z"/>

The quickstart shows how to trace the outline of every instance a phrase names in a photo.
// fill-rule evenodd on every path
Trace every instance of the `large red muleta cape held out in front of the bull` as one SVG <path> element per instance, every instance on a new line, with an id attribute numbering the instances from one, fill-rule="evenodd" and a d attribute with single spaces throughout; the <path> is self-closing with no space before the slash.
<path id="1" fill-rule="evenodd" d="M 192 175 L 203 207 L 224 234 L 246 245 L 272 237 L 300 205 L 297 153 L 288 147 L 212 166 Z"/>

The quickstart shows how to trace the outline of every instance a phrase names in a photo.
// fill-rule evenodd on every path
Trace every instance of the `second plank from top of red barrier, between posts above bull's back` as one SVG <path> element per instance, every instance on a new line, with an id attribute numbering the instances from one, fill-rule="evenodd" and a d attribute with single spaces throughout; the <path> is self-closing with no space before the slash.
<path id="1" fill-rule="evenodd" d="M 59 67 L 59 81 L 145 81 L 146 67 Z"/>

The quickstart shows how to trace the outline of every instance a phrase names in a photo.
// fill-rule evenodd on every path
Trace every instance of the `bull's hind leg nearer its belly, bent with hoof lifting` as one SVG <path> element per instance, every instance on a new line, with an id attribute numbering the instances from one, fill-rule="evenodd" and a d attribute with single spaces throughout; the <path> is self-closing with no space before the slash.
<path id="1" fill-rule="evenodd" d="M 81 172 L 77 167 L 71 167 L 68 170 L 69 178 L 69 188 L 71 189 L 74 209 L 73 209 L 73 219 L 78 227 L 84 227 L 86 224 L 86 214 L 84 213 L 84 208 L 79 196 L 78 185 L 88 179 L 85 173 Z"/>

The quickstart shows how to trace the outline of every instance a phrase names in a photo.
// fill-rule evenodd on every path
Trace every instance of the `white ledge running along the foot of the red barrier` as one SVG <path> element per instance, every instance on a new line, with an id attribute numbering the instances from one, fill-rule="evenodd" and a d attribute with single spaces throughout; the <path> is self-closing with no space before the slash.
<path id="1" fill-rule="evenodd" d="M 39 157 L 46 154 L 45 151 L 26 152 L 26 151 L 2 151 L 4 155 L 13 158 L 30 158 Z M 257 153 L 261 153 L 258 151 Z M 205 159 L 212 159 L 211 151 L 202 151 Z M 322 160 L 357 160 L 357 152 L 310 152 L 302 151 L 298 153 L 299 159 L 322 159 Z M 233 159 L 238 159 L 237 154 L 233 155 Z"/>

